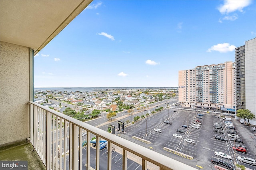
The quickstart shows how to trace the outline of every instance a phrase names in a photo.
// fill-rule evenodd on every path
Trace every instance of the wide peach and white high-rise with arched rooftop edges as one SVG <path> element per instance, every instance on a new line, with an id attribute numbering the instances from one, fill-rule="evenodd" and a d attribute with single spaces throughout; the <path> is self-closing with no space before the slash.
<path id="1" fill-rule="evenodd" d="M 235 106 L 235 64 L 197 66 L 179 71 L 179 105 L 220 109 Z"/>

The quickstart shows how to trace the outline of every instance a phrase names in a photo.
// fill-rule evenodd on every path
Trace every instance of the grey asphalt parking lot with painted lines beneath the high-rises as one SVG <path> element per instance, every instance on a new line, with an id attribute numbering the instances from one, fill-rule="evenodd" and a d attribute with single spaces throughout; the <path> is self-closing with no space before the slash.
<path id="1" fill-rule="evenodd" d="M 202 115 L 203 116 L 200 116 L 200 118 L 197 118 L 198 112 L 185 110 L 174 112 L 172 109 L 169 111 L 164 109 L 163 111 L 150 115 L 149 117 L 126 127 L 125 133 L 118 133 L 118 135 L 195 168 L 215 169 L 214 164 L 211 162 L 212 156 L 217 157 L 214 155 L 215 151 L 224 152 L 225 154 L 230 155 L 232 157 L 231 160 L 226 158 L 221 159 L 230 162 L 233 166 L 233 162 L 236 161 L 234 158 L 237 156 L 246 156 L 255 159 L 256 136 L 254 135 L 252 127 L 242 125 L 239 121 L 232 118 L 231 122 L 236 128 L 236 133 L 247 147 L 246 153 L 238 151 L 234 152 L 232 149 L 234 141 L 231 141 L 230 137 L 228 137 L 225 121 L 222 117 L 218 115 L 213 117 L 214 114 L 212 113 L 202 113 Z M 193 126 L 194 121 L 196 120 L 201 121 L 201 126 Z M 166 124 L 164 121 L 170 121 L 172 122 L 172 125 Z M 223 131 L 223 134 L 214 132 L 214 130 L 218 129 L 213 127 L 214 123 L 218 123 L 223 127 L 223 129 L 219 129 Z M 161 132 L 154 131 L 156 128 L 161 129 Z M 179 129 L 178 132 L 177 129 Z M 183 130 L 184 132 L 180 132 L 180 130 Z M 214 137 L 215 135 L 222 136 L 226 138 L 227 141 L 217 140 Z M 136 140 L 132 138 L 132 136 L 147 140 L 149 143 Z M 186 138 L 194 140 L 194 144 L 185 142 L 184 140 Z M 236 142 L 236 144 L 238 143 Z M 163 149 L 164 147 L 189 155 L 192 159 L 186 159 L 177 154 L 167 152 Z M 256 169 L 255 166 L 250 164 L 240 161 L 238 161 L 238 163 L 243 164 L 247 168 L 253 170 Z"/>

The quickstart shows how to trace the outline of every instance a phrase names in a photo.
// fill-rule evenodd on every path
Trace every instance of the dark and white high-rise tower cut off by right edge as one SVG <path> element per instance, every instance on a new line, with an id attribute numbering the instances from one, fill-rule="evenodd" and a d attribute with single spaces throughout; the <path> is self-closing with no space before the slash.
<path id="1" fill-rule="evenodd" d="M 256 115 L 256 38 L 237 47 L 235 57 L 236 110 L 248 109 Z"/>

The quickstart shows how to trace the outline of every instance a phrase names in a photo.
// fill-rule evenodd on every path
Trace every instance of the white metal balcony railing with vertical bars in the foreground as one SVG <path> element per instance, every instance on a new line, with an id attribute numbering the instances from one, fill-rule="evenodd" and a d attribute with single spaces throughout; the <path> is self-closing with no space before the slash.
<path id="1" fill-rule="evenodd" d="M 91 135 L 96 136 L 96 160 L 94 160 L 96 170 L 100 169 L 100 138 L 108 141 L 108 164 L 106 165 L 108 170 L 111 170 L 112 166 L 112 144 L 122 148 L 122 170 L 127 169 L 127 152 L 141 158 L 142 170 L 147 170 L 147 162 L 158 166 L 160 170 L 196 170 L 182 162 L 37 103 L 29 102 L 29 104 L 30 142 L 48 170 L 90 170 L 90 161 L 95 158 L 90 159 L 89 142 L 85 146 L 86 155 L 82 154 L 82 132 L 84 131 L 87 131 L 86 141 L 90 141 Z M 84 159 L 86 159 L 86 166 L 82 164 Z"/>

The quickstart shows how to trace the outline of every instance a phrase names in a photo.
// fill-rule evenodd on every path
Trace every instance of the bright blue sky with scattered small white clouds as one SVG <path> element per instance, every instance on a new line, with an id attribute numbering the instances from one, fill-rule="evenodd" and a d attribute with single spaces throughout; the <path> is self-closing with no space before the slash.
<path id="1" fill-rule="evenodd" d="M 94 0 L 34 57 L 35 87 L 178 87 L 178 71 L 235 61 L 256 1 Z"/>

